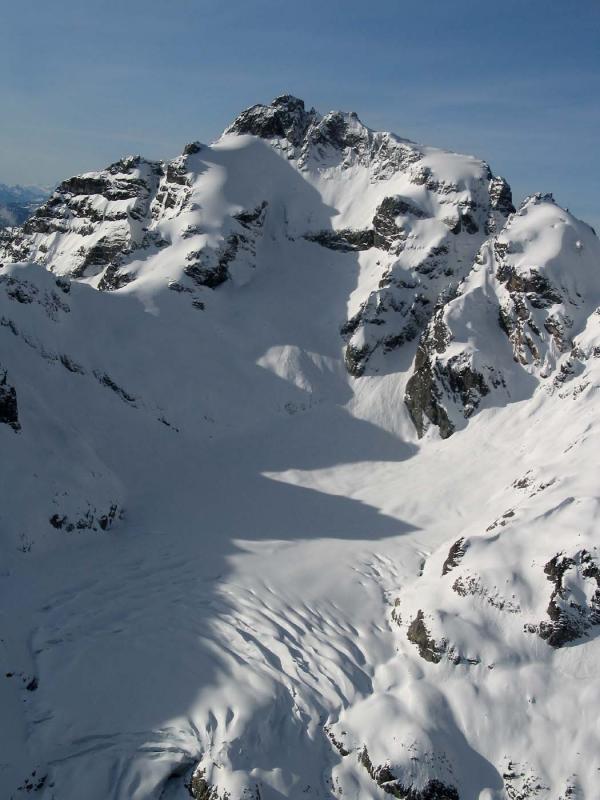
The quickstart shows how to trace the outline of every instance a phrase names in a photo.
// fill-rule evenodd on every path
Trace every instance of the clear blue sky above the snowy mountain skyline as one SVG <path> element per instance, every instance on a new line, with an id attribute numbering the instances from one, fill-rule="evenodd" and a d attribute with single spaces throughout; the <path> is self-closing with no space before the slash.
<path id="1" fill-rule="evenodd" d="M 600 229 L 598 0 L 0 0 L 0 182 L 172 157 L 283 92 Z"/>

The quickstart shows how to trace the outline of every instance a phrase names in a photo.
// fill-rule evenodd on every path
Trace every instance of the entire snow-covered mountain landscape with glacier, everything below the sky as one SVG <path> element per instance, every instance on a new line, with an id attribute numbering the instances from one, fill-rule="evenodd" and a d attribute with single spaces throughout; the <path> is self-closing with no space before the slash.
<path id="1" fill-rule="evenodd" d="M 597 796 L 600 241 L 289 95 L 0 232 L 0 795 Z"/>

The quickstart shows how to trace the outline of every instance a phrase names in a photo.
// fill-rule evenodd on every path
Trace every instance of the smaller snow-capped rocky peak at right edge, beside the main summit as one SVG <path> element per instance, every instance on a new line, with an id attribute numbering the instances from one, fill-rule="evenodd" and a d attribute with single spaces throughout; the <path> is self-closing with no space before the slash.
<path id="1" fill-rule="evenodd" d="M 600 304 L 592 229 L 536 195 L 486 241 L 423 333 L 406 387 L 420 436 L 443 437 L 482 403 L 503 405 L 580 372 L 577 337 Z"/>

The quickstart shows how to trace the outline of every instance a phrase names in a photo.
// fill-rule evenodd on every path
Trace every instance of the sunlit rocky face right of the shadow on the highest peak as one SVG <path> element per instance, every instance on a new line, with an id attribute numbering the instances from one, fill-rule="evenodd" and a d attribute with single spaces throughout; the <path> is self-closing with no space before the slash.
<path id="1" fill-rule="evenodd" d="M 514 210 L 510 187 L 484 162 L 371 131 L 355 114 L 321 117 L 284 96 L 244 112 L 227 132 L 266 138 L 302 172 L 355 190 L 359 227 L 312 234 L 325 247 L 353 237 L 356 249 L 375 251 L 377 279 L 341 328 L 355 377 L 377 351 L 420 334 L 439 293 L 458 284 L 485 236 Z"/>

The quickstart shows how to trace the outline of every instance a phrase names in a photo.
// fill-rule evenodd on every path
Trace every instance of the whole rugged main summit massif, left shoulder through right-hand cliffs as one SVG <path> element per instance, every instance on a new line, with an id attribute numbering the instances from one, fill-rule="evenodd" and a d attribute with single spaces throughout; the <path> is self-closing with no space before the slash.
<path id="1" fill-rule="evenodd" d="M 511 210 L 510 188 L 484 162 L 286 95 L 243 112 L 212 147 L 193 143 L 169 163 L 129 157 L 64 181 L 0 238 L 0 258 L 101 290 L 170 285 L 201 308 L 207 289 L 248 279 L 266 221 L 289 242 L 354 253 L 364 279 L 339 327 L 358 376 L 419 335 L 440 291 L 467 274 Z"/>

